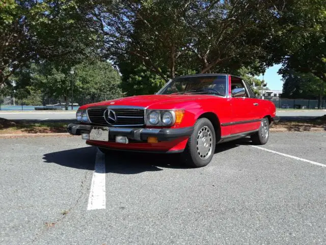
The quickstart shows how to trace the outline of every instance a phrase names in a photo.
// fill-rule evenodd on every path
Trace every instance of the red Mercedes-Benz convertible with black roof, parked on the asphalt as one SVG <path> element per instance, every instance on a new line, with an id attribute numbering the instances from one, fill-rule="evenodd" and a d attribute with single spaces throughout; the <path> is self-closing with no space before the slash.
<path id="1" fill-rule="evenodd" d="M 218 143 L 250 136 L 265 144 L 275 112 L 243 79 L 203 74 L 174 78 L 155 95 L 84 105 L 67 130 L 104 153 L 181 153 L 186 164 L 201 167 Z"/>

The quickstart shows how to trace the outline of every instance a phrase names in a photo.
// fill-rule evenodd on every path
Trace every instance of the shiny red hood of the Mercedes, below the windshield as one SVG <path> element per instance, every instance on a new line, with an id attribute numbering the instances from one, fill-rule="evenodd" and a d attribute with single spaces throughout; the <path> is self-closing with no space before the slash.
<path id="1" fill-rule="evenodd" d="M 117 100 L 103 101 L 80 107 L 86 109 L 94 106 L 139 106 L 149 109 L 186 109 L 197 108 L 201 100 L 223 99 L 216 95 L 167 94 L 167 95 L 137 95 Z"/>

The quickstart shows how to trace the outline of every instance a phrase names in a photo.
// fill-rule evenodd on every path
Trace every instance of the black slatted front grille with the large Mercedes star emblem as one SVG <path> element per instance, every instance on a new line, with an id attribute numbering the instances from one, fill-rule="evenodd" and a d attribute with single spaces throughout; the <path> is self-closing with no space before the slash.
<path id="1" fill-rule="evenodd" d="M 104 119 L 107 107 L 94 107 L 87 110 L 92 124 L 109 125 Z M 117 120 L 110 126 L 143 126 L 145 124 L 145 110 L 142 108 L 110 108 L 116 114 Z"/>

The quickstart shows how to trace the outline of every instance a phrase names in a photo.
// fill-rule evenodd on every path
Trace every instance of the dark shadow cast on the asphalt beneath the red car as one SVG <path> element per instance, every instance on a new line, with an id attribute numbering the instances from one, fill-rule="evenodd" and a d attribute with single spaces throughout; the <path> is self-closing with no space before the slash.
<path id="1" fill-rule="evenodd" d="M 236 148 L 242 141 L 233 141 L 216 145 L 215 153 Z M 243 143 L 242 143 L 243 144 Z M 94 170 L 97 148 L 87 146 L 44 154 L 45 163 L 56 163 L 65 167 Z M 181 162 L 180 154 L 154 154 L 139 152 L 112 151 L 105 156 L 106 173 L 124 175 L 139 174 L 145 171 L 161 171 L 162 168 L 188 169 Z"/>

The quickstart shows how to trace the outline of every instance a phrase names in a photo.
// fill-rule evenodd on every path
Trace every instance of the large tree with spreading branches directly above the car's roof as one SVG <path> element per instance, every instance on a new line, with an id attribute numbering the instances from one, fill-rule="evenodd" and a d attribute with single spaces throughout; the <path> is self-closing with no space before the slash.
<path id="1" fill-rule="evenodd" d="M 266 52 L 284 1 L 98 1 L 93 28 L 108 55 L 127 59 L 165 81 L 180 70 L 235 70 L 256 60 L 273 64 Z M 185 61 L 185 62 L 184 62 Z"/>

